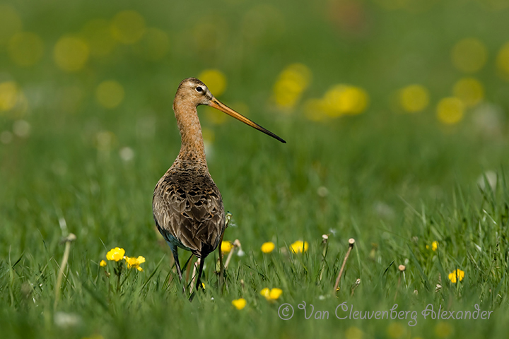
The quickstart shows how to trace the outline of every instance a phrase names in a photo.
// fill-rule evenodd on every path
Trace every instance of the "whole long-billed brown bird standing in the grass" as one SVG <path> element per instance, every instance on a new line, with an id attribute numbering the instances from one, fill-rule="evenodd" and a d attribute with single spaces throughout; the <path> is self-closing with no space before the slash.
<path id="1" fill-rule="evenodd" d="M 153 218 L 170 245 L 179 278 L 182 279 L 177 247 L 201 258 L 197 288 L 206 256 L 214 251 L 225 231 L 223 198 L 209 174 L 197 106 L 209 105 L 255 129 L 283 139 L 242 117 L 219 102 L 204 83 L 187 78 L 180 83 L 173 110 L 180 130 L 181 148 L 173 165 L 159 179 L 152 199 Z"/>

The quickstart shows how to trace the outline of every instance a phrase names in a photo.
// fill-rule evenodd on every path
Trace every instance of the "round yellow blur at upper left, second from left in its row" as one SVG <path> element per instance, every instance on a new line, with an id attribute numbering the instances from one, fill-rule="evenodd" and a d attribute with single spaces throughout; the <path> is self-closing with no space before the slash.
<path id="1" fill-rule="evenodd" d="M 76 72 L 88 61 L 88 44 L 78 37 L 61 37 L 53 49 L 53 59 L 60 69 Z"/>

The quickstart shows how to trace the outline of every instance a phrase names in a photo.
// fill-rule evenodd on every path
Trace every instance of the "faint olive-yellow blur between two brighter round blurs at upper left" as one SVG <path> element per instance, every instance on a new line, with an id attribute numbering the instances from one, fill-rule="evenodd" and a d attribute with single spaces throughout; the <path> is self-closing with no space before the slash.
<path id="1" fill-rule="evenodd" d="M 83 26 L 81 33 L 83 38 L 88 42 L 90 55 L 93 57 L 104 57 L 110 54 L 117 45 L 117 40 L 112 37 L 110 22 L 108 20 L 90 20 Z"/>

